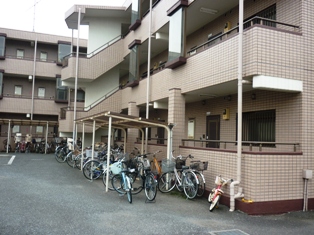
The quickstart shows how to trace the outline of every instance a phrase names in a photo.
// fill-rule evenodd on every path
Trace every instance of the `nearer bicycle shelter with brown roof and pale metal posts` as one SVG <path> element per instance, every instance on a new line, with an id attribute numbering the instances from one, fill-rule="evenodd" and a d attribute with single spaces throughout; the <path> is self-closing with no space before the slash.
<path id="1" fill-rule="evenodd" d="M 93 140 L 92 140 L 92 156 L 94 156 L 94 144 L 95 144 L 95 131 L 96 125 L 98 128 L 107 127 L 108 128 L 108 149 L 107 152 L 110 153 L 111 150 L 111 129 L 121 129 L 124 131 L 124 136 L 126 136 L 126 129 L 128 128 L 136 128 L 142 132 L 142 146 L 141 152 L 143 153 L 143 145 L 144 145 L 144 131 L 143 128 L 149 127 L 163 127 L 167 130 L 168 138 L 167 138 L 167 159 L 170 159 L 170 153 L 172 149 L 172 127 L 173 124 L 163 124 L 161 122 L 150 120 L 146 118 L 141 118 L 137 116 L 131 116 L 111 111 L 105 111 L 102 113 L 98 113 L 92 116 L 84 117 L 75 120 L 76 124 L 83 124 L 82 137 L 84 138 L 84 125 L 92 125 L 93 126 Z M 82 144 L 84 141 L 82 141 Z M 126 146 L 126 138 L 124 138 L 124 146 Z M 84 149 L 84 144 L 82 145 L 82 149 Z M 124 150 L 125 151 L 125 150 Z M 109 168 L 109 161 L 107 161 L 107 168 Z M 108 182 L 109 182 L 109 174 L 107 174 L 106 178 L 106 192 L 108 191 Z"/>

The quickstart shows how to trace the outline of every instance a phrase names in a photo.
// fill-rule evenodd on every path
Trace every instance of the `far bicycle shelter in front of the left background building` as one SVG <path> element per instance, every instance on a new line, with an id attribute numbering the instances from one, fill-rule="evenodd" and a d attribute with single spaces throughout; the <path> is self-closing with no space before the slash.
<path id="1" fill-rule="evenodd" d="M 56 127 L 59 126 L 59 123 L 57 121 L 41 121 L 41 120 L 23 120 L 23 119 L 0 119 L 0 125 L 8 125 L 8 136 L 7 140 L 8 143 L 10 143 L 11 140 L 11 127 L 14 125 L 19 125 L 19 126 L 46 126 L 46 134 L 45 134 L 45 146 L 47 146 L 47 141 L 48 141 L 48 127 Z M 31 133 L 29 133 L 31 134 Z M 45 148 L 45 154 L 47 149 Z M 8 153 L 8 146 L 6 149 L 6 152 Z"/>

